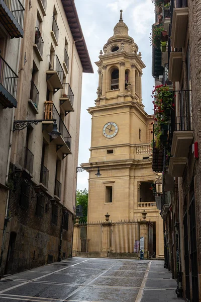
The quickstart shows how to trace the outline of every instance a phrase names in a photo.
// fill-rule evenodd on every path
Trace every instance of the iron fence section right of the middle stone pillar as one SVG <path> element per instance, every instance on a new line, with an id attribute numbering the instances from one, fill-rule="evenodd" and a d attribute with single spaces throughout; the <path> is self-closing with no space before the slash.
<path id="1" fill-rule="evenodd" d="M 139 242 L 139 221 L 118 221 L 111 225 L 109 253 L 138 253 Z"/>

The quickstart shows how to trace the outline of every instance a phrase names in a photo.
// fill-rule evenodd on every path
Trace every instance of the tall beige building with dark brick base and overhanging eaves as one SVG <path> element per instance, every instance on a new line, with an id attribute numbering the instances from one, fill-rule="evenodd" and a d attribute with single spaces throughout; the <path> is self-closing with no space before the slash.
<path id="1" fill-rule="evenodd" d="M 22 5 L 2 274 L 71 256 L 82 72 L 93 72 L 74 1 Z"/>

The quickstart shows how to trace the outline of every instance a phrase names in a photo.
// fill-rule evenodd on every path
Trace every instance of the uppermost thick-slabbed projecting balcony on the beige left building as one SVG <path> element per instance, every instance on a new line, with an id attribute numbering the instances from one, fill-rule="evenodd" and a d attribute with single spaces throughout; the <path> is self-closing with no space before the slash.
<path id="1" fill-rule="evenodd" d="M 46 71 L 46 81 L 50 91 L 56 93 L 63 89 L 63 68 L 56 54 L 49 54 L 49 67 Z"/>

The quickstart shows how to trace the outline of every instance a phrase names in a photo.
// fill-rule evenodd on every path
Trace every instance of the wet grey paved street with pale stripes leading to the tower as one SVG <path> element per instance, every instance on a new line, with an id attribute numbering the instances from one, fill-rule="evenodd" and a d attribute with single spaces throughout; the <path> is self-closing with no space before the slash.
<path id="1" fill-rule="evenodd" d="M 175 302 L 163 261 L 72 258 L 0 281 L 0 302 Z M 182 300 L 183 301 L 183 300 Z"/>

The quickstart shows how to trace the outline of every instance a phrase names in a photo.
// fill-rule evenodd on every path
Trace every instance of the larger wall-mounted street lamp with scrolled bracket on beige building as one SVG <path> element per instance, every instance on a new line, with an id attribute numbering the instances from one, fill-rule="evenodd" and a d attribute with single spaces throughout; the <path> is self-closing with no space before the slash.
<path id="1" fill-rule="evenodd" d="M 41 122 L 43 122 L 45 120 L 16 120 L 14 121 L 13 124 L 13 131 L 20 131 L 23 130 L 27 127 L 29 127 L 29 125 L 34 124 L 34 125 L 38 125 Z M 52 119 L 50 121 L 53 121 L 53 129 L 52 132 L 48 133 L 53 139 L 57 138 L 58 136 L 61 135 L 61 132 L 59 132 L 57 130 L 57 124 L 56 124 L 56 119 Z"/>

